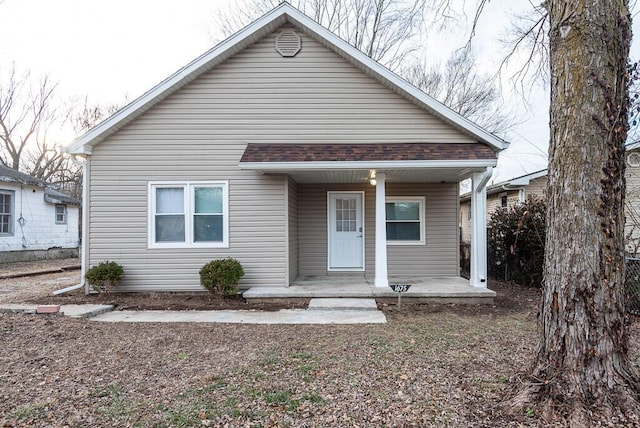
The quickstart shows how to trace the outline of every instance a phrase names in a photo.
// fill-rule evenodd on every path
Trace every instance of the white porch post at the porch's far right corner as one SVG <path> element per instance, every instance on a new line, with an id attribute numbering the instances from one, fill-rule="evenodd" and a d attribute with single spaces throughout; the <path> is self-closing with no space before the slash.
<path id="1" fill-rule="evenodd" d="M 487 182 L 492 168 L 471 176 L 471 277 L 473 287 L 487 287 Z"/>

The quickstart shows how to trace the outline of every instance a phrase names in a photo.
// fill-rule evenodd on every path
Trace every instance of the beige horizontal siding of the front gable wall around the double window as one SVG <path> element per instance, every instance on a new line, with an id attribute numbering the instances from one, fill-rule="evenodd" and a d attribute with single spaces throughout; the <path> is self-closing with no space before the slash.
<path id="1" fill-rule="evenodd" d="M 294 210 L 284 203 L 285 181 L 239 170 L 249 142 L 474 141 L 308 37 L 293 58 L 278 55 L 273 43 L 273 34 L 258 41 L 94 147 L 89 263 L 122 263 L 123 290 L 199 290 L 199 268 L 222 257 L 236 257 L 245 267 L 241 287 L 285 285 L 287 273 L 293 279 L 295 225 L 285 219 L 286 210 L 289 216 Z M 147 249 L 147 183 L 169 180 L 229 180 L 230 248 Z M 326 200 L 315 202 L 320 211 L 303 213 L 301 201 L 309 196 L 298 193 L 297 270 L 324 274 Z M 301 236 L 303 218 L 317 220 L 311 227 L 325 224 L 314 231 L 317 246 Z M 367 240 L 368 269 L 372 242 Z"/>

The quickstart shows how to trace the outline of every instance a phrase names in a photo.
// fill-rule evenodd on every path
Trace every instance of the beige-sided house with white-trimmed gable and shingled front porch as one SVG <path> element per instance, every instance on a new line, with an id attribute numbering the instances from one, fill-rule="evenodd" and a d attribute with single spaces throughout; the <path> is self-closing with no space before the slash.
<path id="1" fill-rule="evenodd" d="M 506 145 L 282 3 L 68 152 L 86 163 L 85 265 L 124 265 L 123 291 L 201 290 L 226 257 L 241 288 L 388 289 L 459 276 L 459 182 L 484 222 Z M 483 240 L 471 285 L 486 288 Z"/>

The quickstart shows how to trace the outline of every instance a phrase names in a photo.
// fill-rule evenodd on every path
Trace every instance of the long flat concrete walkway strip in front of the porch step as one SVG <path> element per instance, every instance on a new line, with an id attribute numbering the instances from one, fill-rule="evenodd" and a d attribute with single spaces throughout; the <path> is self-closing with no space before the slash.
<path id="1" fill-rule="evenodd" d="M 263 311 L 116 311 L 90 318 L 103 322 L 197 322 L 232 324 L 384 324 L 381 311 L 283 309 Z"/>

